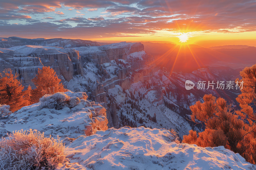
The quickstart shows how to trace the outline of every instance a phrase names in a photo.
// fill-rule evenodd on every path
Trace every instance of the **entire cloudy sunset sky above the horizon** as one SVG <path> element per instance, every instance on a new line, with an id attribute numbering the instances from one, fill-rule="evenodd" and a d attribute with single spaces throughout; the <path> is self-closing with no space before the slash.
<path id="1" fill-rule="evenodd" d="M 255 16 L 255 0 L 1 0 L 0 37 L 256 46 Z"/>

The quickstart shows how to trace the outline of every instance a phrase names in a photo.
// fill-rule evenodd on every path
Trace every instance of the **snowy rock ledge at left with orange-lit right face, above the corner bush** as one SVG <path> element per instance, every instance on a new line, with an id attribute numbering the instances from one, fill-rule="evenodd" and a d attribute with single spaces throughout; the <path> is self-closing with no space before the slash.
<path id="1" fill-rule="evenodd" d="M 85 92 L 45 95 L 0 122 L 0 137 L 15 130 L 37 129 L 47 135 L 76 138 L 107 130 L 106 109 L 89 102 Z"/>

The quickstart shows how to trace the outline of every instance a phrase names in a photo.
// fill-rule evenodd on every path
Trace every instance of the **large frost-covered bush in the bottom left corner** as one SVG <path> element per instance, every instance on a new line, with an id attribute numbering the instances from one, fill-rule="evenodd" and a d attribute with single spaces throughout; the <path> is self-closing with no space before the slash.
<path id="1" fill-rule="evenodd" d="M 0 141 L 0 170 L 52 170 L 66 158 L 58 139 L 37 130 L 15 131 Z"/>

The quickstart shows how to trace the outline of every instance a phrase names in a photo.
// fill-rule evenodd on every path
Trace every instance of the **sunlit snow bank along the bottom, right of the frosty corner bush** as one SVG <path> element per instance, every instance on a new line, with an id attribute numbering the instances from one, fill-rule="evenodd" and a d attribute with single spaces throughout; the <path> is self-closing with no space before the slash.
<path id="1" fill-rule="evenodd" d="M 256 169 L 224 147 L 176 144 L 165 129 L 110 128 L 66 145 L 69 163 L 59 169 Z"/>

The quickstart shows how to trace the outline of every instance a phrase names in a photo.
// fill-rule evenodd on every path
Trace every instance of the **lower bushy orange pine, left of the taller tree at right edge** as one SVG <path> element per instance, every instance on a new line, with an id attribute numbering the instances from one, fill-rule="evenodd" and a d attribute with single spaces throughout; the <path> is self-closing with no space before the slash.
<path id="1" fill-rule="evenodd" d="M 243 93 L 243 92 L 242 92 Z M 190 130 L 183 136 L 184 143 L 197 144 L 201 147 L 224 146 L 239 153 L 246 161 L 256 163 L 256 126 L 255 121 L 246 116 L 246 112 L 233 112 L 226 100 L 210 95 L 204 95 L 204 102 L 197 101 L 190 106 L 191 120 L 201 122 L 205 127 L 203 132 L 196 134 Z M 238 114 L 236 114 L 238 113 Z M 244 115 L 243 115 L 244 114 Z M 239 116 L 241 115 L 241 116 Z"/>

